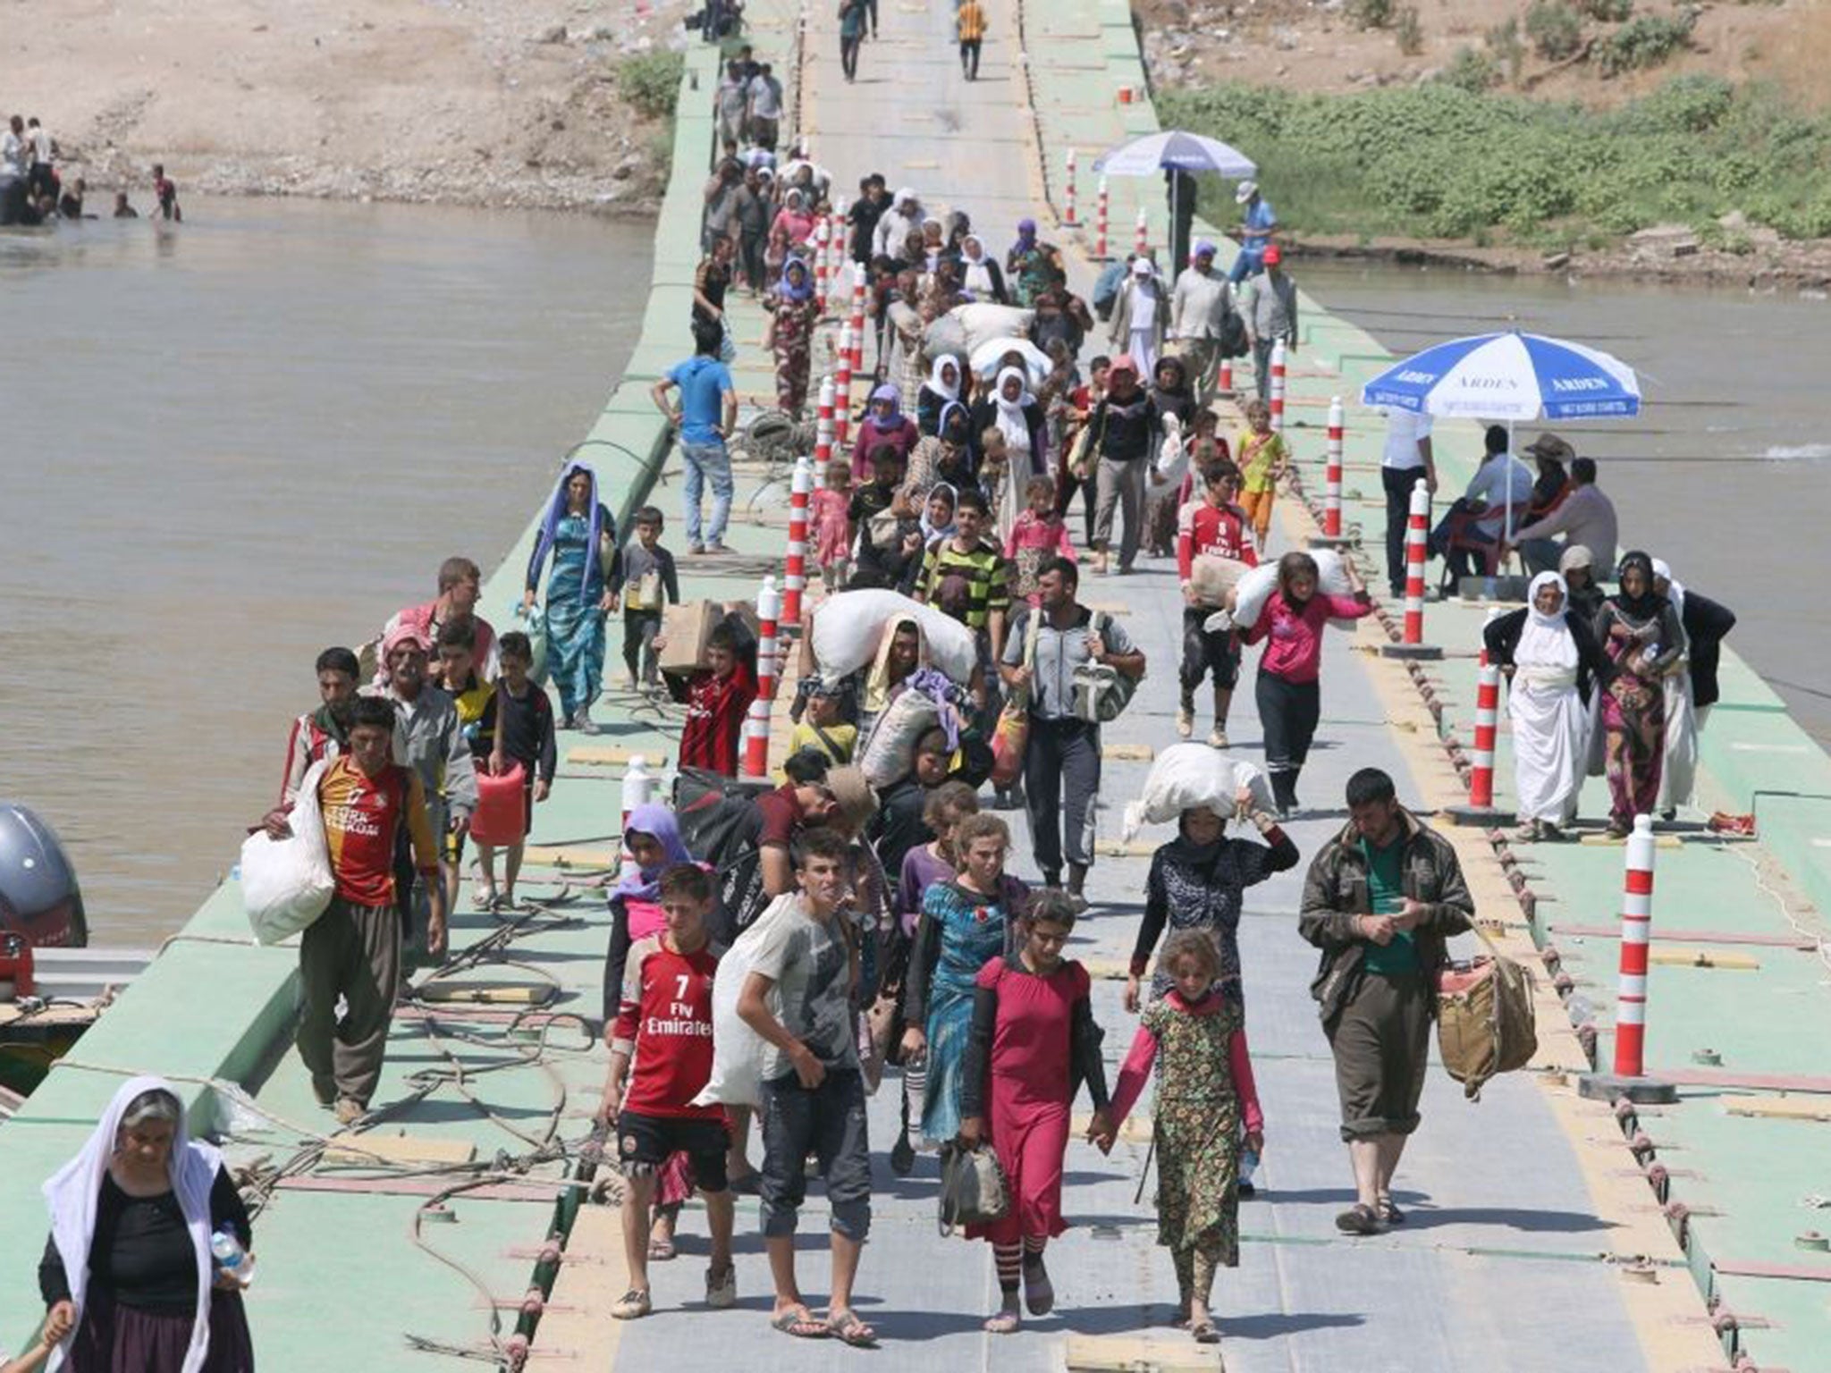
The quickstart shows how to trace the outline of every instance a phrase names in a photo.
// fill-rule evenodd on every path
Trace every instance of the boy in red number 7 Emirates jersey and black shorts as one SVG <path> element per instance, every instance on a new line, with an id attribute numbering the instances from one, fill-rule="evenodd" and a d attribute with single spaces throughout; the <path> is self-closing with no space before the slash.
<path id="1" fill-rule="evenodd" d="M 648 1223 L 655 1173 L 672 1153 L 692 1162 L 712 1230 L 712 1263 L 705 1270 L 705 1303 L 731 1307 L 738 1272 L 731 1263 L 732 1199 L 725 1183 L 731 1142 L 721 1106 L 694 1106 L 712 1076 L 712 952 L 705 921 L 712 914 L 712 875 L 683 862 L 661 877 L 666 928 L 630 945 L 623 1005 L 610 1027 L 610 1076 L 601 1120 L 617 1122 L 623 1194 L 623 1252 L 630 1291 L 610 1309 L 617 1320 L 646 1316 Z M 632 1071 L 634 1064 L 634 1071 Z"/>

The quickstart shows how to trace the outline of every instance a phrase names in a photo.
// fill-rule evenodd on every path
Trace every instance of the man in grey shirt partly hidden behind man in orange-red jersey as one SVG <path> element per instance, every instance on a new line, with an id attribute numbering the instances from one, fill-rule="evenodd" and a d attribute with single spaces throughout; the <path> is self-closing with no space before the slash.
<path id="1" fill-rule="evenodd" d="M 366 686 L 364 696 L 379 696 L 394 703 L 394 762 L 419 778 L 427 798 L 427 818 L 432 835 L 445 849 L 445 835 L 463 835 L 471 829 L 476 811 L 476 769 L 471 765 L 471 743 L 458 719 L 458 703 L 427 679 L 432 641 L 417 624 L 395 624 L 381 641 L 381 663 L 386 681 Z M 405 857 L 405 855 L 403 855 Z M 458 864 L 441 857 L 441 892 L 427 882 L 414 882 L 397 866 L 395 888 L 403 893 L 401 921 L 416 948 L 425 948 L 427 915 L 445 910 L 445 895 L 458 886 Z M 412 892 L 412 901 L 405 893 Z"/>

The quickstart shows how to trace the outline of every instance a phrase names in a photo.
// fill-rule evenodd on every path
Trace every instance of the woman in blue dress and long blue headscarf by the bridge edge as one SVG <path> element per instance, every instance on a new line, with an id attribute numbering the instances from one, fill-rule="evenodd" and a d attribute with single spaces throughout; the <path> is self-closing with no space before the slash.
<path id="1" fill-rule="evenodd" d="M 535 555 L 527 560 L 527 593 L 533 608 L 540 569 L 553 557 L 547 577 L 547 672 L 560 692 L 560 729 L 591 732 L 591 703 L 604 683 L 604 615 L 617 608 L 608 589 L 623 551 L 617 522 L 597 500 L 597 472 L 568 463 L 553 489 Z"/>

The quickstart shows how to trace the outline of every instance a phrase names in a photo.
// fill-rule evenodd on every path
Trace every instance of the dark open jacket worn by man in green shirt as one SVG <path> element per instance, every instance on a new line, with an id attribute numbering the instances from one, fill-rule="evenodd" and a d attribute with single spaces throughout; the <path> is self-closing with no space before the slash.
<path id="1" fill-rule="evenodd" d="M 1450 840 L 1410 811 L 1399 811 L 1399 822 L 1404 827 L 1404 895 L 1425 903 L 1425 921 L 1412 937 L 1430 979 L 1448 961 L 1448 937 L 1468 928 L 1476 903 Z M 1335 1022 L 1360 985 L 1368 941 L 1355 934 L 1353 917 L 1371 914 L 1360 833 L 1349 824 L 1309 864 L 1296 921 L 1298 934 L 1322 950 L 1309 994 L 1316 998 L 1324 1025 Z M 1428 1000 L 1436 1007 L 1436 998 Z"/>

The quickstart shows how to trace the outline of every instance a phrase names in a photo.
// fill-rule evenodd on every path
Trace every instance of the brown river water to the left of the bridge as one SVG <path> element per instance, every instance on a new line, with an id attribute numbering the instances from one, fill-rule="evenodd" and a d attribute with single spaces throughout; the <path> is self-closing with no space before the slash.
<path id="1" fill-rule="evenodd" d="M 185 201 L 0 234 L 0 798 L 97 943 L 273 804 L 311 661 L 515 542 L 635 342 L 650 227 Z"/>

